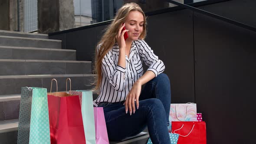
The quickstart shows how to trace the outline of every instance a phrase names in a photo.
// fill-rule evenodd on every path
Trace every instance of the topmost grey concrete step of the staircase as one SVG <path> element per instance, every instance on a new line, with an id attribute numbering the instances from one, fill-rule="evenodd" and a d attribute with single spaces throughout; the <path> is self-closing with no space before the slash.
<path id="1" fill-rule="evenodd" d="M 47 34 L 23 33 L 23 32 L 14 32 L 14 31 L 7 31 L 7 30 L 0 30 L 0 36 L 17 36 L 17 37 L 27 37 L 27 38 L 48 39 Z"/>

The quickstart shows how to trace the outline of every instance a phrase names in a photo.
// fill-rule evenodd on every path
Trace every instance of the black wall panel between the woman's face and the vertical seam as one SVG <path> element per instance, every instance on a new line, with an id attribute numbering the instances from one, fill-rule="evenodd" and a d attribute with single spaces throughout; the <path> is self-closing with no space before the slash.
<path id="1" fill-rule="evenodd" d="M 165 64 L 173 103 L 194 102 L 192 13 L 179 10 L 148 17 L 145 41 Z"/>

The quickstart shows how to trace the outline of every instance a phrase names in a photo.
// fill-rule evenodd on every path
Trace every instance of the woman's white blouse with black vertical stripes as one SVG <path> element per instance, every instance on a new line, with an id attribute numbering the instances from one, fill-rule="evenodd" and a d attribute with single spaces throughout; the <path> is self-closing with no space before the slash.
<path id="1" fill-rule="evenodd" d="M 100 45 L 98 50 L 99 48 Z M 142 60 L 149 67 L 147 71 L 154 72 L 156 76 L 164 72 L 165 69 L 164 63 L 141 39 L 132 42 L 129 58 L 125 56 L 125 68 L 117 65 L 118 56 L 119 47 L 116 42 L 102 59 L 102 83 L 94 105 L 98 105 L 100 102 L 124 101 L 134 82 L 143 75 Z"/>

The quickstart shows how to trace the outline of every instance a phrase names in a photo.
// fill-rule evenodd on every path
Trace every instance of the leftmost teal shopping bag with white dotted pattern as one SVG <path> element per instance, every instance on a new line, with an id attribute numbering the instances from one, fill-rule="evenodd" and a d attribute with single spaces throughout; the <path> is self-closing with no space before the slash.
<path id="1" fill-rule="evenodd" d="M 46 88 L 22 88 L 18 144 L 50 144 Z"/>

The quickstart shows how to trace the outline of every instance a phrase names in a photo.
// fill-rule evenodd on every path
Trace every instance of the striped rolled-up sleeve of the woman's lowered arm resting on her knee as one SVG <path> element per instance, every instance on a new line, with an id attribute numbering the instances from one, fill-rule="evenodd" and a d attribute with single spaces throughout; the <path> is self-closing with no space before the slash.
<path id="1" fill-rule="evenodd" d="M 148 44 L 144 40 L 141 40 L 140 55 L 145 64 L 148 65 L 147 71 L 154 72 L 156 77 L 160 73 L 164 72 L 164 62 L 158 59 L 158 56 L 154 54 L 153 50 L 148 46 Z"/>

